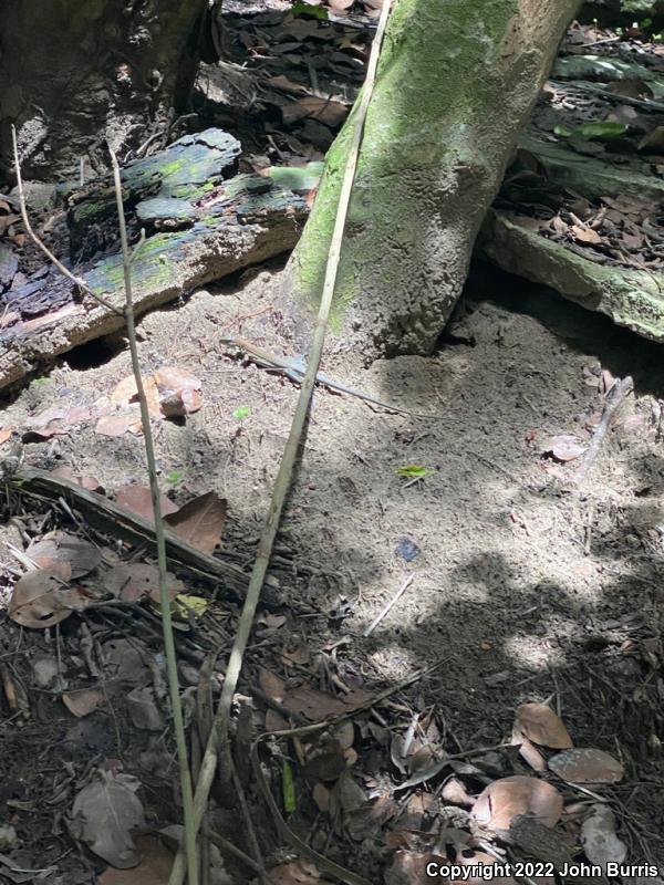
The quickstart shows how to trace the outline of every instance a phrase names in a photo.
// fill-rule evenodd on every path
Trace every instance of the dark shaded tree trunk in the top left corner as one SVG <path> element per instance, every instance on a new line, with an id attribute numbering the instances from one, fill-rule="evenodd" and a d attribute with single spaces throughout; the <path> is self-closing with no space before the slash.
<path id="1" fill-rule="evenodd" d="M 0 173 L 11 124 L 27 178 L 105 166 L 166 123 L 188 95 L 206 0 L 19 0 L 0 3 Z"/>

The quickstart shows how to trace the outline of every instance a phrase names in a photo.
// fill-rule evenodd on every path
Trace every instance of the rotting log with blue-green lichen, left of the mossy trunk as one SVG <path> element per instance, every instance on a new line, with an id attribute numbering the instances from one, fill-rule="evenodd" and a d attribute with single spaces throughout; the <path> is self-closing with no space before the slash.
<path id="1" fill-rule="evenodd" d="M 266 261 L 292 248 L 300 235 L 304 200 L 260 176 L 226 180 L 237 149 L 235 139 L 221 136 L 217 131 L 187 136 L 160 160 L 152 157 L 125 169 L 129 226 L 147 233 L 132 264 L 136 315 Z M 174 150 L 180 152 L 177 157 Z M 82 254 L 107 248 L 112 199 L 105 185 L 101 192 L 86 189 L 71 197 L 70 225 Z M 122 257 L 87 261 L 75 273 L 118 313 L 82 294 L 55 269 L 38 271 L 0 299 L 0 388 L 79 344 L 123 327 Z"/>

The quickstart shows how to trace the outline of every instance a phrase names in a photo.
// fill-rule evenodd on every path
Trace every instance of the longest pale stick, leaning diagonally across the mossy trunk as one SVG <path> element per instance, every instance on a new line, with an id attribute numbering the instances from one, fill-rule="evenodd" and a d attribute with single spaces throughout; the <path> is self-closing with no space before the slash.
<path id="1" fill-rule="evenodd" d="M 231 774 L 229 766 L 230 749 L 228 740 L 228 725 L 230 719 L 232 698 L 236 691 L 240 670 L 242 667 L 242 658 L 245 655 L 245 649 L 247 648 L 247 643 L 249 641 L 249 635 L 251 633 L 251 627 L 253 625 L 253 617 L 260 598 L 260 592 L 270 562 L 272 545 L 274 543 L 274 538 L 277 537 L 277 532 L 279 530 L 283 502 L 286 500 L 286 496 L 290 488 L 291 478 L 293 475 L 293 468 L 295 465 L 298 450 L 300 447 L 300 440 L 302 438 L 302 431 L 304 429 L 304 424 L 307 421 L 307 416 L 309 414 L 311 396 L 313 394 L 313 387 L 315 384 L 315 376 L 321 361 L 321 354 L 325 341 L 328 317 L 330 314 L 332 296 L 334 294 L 334 288 L 336 284 L 336 273 L 339 270 L 339 259 L 341 256 L 343 232 L 345 229 L 347 209 L 351 200 L 353 181 L 355 178 L 355 169 L 357 167 L 360 145 L 362 142 L 362 133 L 364 131 L 364 121 L 366 118 L 366 111 L 369 108 L 369 103 L 371 101 L 371 96 L 373 93 L 373 85 L 375 82 L 376 69 L 378 64 L 378 58 L 381 54 L 381 44 L 383 41 L 383 34 L 385 33 L 387 18 L 390 15 L 390 8 L 391 3 L 386 1 L 383 4 L 381 18 L 378 21 L 378 27 L 371 49 L 371 56 L 369 60 L 369 67 L 366 72 L 366 81 L 364 84 L 364 88 L 362 91 L 362 98 L 357 107 L 357 113 L 354 116 L 353 138 L 349 150 L 343 181 L 341 185 L 339 207 L 336 211 L 336 218 L 334 221 L 334 229 L 332 232 L 330 251 L 328 254 L 328 264 L 325 268 L 325 279 L 323 282 L 321 304 L 319 308 L 315 331 L 313 334 L 313 341 L 311 345 L 311 352 L 309 354 L 307 373 L 304 375 L 304 379 L 302 381 L 302 386 L 300 388 L 300 396 L 298 398 L 295 414 L 293 416 L 290 434 L 283 451 L 283 458 L 281 459 L 281 464 L 279 466 L 279 473 L 277 476 L 277 481 L 274 483 L 274 489 L 272 491 L 272 500 L 270 502 L 270 509 L 268 511 L 266 524 L 258 545 L 258 553 L 256 562 L 253 564 L 251 579 L 249 581 L 247 597 L 245 600 L 242 614 L 238 623 L 238 629 L 235 643 L 232 646 L 232 650 L 230 653 L 230 659 L 228 662 L 228 667 L 226 670 L 226 678 L 224 680 L 224 687 L 221 689 L 221 698 L 219 700 L 219 706 L 217 708 L 217 714 L 215 716 L 215 726 L 212 729 L 212 736 L 208 741 L 208 746 L 206 748 L 205 756 L 203 758 L 200 777 L 198 780 L 198 784 L 196 788 L 196 795 L 194 799 L 194 806 L 195 806 L 194 812 L 196 816 L 196 824 L 198 826 L 200 825 L 200 821 L 203 819 L 203 814 L 207 805 L 208 794 L 212 785 L 215 771 L 217 769 L 217 762 L 219 758 L 221 758 L 221 760 L 226 762 L 225 769 L 220 772 L 222 774 L 221 778 L 222 787 L 225 787 L 227 790 L 230 789 L 231 787 Z M 168 885 L 181 885 L 184 879 L 184 872 L 185 872 L 184 857 L 180 850 L 173 864 L 173 870 L 170 872 Z"/>

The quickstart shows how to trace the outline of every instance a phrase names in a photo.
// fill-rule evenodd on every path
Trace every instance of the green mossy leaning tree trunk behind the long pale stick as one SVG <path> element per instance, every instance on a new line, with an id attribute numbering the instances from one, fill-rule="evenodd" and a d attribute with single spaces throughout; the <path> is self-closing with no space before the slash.
<path id="1" fill-rule="evenodd" d="M 332 327 L 373 355 L 427 353 L 579 0 L 398 0 L 366 119 Z M 354 112 L 353 112 L 354 113 Z M 282 292 L 310 329 L 353 114 Z"/>

